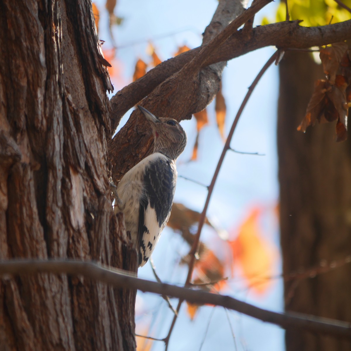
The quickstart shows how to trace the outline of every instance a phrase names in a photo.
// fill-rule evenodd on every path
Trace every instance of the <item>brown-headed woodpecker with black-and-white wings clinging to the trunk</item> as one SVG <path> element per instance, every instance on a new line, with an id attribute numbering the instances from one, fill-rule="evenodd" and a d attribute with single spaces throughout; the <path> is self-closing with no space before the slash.
<path id="1" fill-rule="evenodd" d="M 176 160 L 185 148 L 186 133 L 175 119 L 158 118 L 138 107 L 151 124 L 154 150 L 123 176 L 117 195 L 141 267 L 170 218 L 177 182 Z"/>

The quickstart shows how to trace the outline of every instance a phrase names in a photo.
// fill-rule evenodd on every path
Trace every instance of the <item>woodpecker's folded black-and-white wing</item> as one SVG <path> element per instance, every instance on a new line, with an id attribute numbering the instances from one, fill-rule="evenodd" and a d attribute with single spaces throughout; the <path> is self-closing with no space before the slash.
<path id="1" fill-rule="evenodd" d="M 177 171 L 174 162 L 159 154 L 145 168 L 144 196 L 139 206 L 139 265 L 143 266 L 170 217 Z"/>

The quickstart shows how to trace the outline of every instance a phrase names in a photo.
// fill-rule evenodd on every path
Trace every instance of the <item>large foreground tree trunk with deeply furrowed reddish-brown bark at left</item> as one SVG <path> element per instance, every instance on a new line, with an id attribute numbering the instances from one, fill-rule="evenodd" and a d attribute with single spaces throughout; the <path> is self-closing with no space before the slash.
<path id="1" fill-rule="evenodd" d="M 136 271 L 107 178 L 108 75 L 90 1 L 0 2 L 0 259 Z M 1 350 L 133 350 L 134 295 L 82 277 L 0 280 Z"/>

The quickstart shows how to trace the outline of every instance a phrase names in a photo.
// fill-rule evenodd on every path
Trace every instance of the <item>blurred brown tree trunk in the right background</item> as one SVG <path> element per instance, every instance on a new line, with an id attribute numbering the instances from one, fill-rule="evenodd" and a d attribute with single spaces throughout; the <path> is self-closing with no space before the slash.
<path id="1" fill-rule="evenodd" d="M 322 67 L 307 53 L 280 63 L 278 155 L 283 273 L 330 265 L 351 252 L 351 138 L 335 142 L 335 122 L 296 127 Z M 351 265 L 285 282 L 285 309 L 351 321 Z M 351 350 L 351 343 L 320 334 L 286 331 L 286 350 Z"/>

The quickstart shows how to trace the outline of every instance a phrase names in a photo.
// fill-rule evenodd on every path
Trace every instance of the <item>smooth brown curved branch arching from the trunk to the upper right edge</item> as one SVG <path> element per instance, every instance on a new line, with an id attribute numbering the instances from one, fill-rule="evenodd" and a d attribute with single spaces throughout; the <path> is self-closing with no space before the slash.
<path id="1" fill-rule="evenodd" d="M 351 20 L 321 27 L 302 27 L 298 21 L 285 21 L 253 29 L 250 37 L 243 31 L 234 33 L 204 62 L 208 66 L 227 61 L 266 46 L 278 48 L 309 48 L 351 38 Z M 127 85 L 111 99 L 111 120 L 115 128 L 121 117 L 137 102 L 148 95 L 165 79 L 178 72 L 201 50 L 197 47 L 177 57 L 162 62 L 151 69 L 144 77 Z"/>

